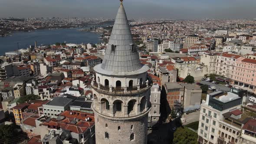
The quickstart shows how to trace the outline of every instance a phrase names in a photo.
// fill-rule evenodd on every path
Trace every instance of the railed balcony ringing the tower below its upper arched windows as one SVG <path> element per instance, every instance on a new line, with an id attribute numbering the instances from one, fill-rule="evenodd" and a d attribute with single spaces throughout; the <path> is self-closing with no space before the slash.
<path id="1" fill-rule="evenodd" d="M 138 92 L 147 91 L 153 83 L 149 80 L 144 84 L 132 86 L 132 87 L 112 87 L 112 86 L 105 86 L 96 82 L 92 82 L 92 88 L 94 88 L 97 92 L 102 92 L 106 94 L 112 95 L 120 95 L 120 94 L 135 94 Z"/>

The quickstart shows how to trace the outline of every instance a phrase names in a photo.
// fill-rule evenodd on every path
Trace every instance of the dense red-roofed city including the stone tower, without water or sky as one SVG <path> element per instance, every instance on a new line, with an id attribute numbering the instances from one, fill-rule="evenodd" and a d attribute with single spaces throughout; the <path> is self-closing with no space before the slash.
<path id="1" fill-rule="evenodd" d="M 256 20 L 0 18 L 17 31 L 79 28 L 98 43 L 0 56 L 0 144 L 255 144 Z"/>

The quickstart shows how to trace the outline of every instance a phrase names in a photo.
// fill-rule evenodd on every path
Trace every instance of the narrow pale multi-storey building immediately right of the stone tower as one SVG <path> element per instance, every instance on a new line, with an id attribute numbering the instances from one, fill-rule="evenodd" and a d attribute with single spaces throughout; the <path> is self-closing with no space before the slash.
<path id="1" fill-rule="evenodd" d="M 154 83 L 151 87 L 150 102 L 152 105 L 151 111 L 148 114 L 149 123 L 157 123 L 160 118 L 160 87 L 157 83 Z"/>

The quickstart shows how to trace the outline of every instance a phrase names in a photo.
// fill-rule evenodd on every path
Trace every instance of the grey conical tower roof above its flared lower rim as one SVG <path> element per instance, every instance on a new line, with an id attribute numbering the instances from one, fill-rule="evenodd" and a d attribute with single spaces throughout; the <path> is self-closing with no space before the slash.
<path id="1" fill-rule="evenodd" d="M 112 45 L 116 46 L 115 51 L 112 51 Z M 132 52 L 131 45 L 135 45 L 135 43 L 131 35 L 125 8 L 121 3 L 101 68 L 115 72 L 130 72 L 141 69 L 143 65 L 140 62 L 138 52 Z"/>

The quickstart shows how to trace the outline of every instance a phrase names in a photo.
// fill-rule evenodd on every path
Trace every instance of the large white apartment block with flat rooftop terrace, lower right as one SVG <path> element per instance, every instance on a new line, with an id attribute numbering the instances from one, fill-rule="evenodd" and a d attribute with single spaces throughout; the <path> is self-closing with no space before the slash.
<path id="1" fill-rule="evenodd" d="M 240 110 L 245 96 L 246 91 L 235 88 L 207 94 L 200 110 L 199 144 L 240 144 L 242 126 L 249 120 Z"/>

